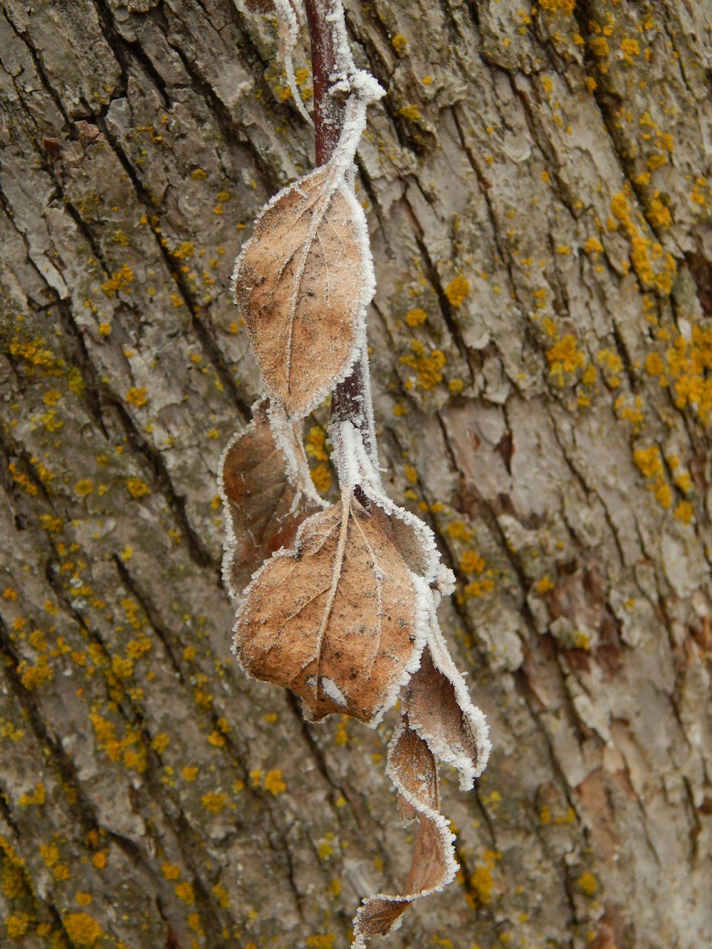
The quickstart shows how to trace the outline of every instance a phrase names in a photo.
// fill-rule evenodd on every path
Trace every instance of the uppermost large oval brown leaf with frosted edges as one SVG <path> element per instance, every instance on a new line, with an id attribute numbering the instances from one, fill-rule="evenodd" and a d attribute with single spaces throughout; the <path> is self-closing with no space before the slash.
<path id="1" fill-rule="evenodd" d="M 237 258 L 242 309 L 265 387 L 291 419 L 304 418 L 358 355 L 373 292 L 365 220 L 330 165 L 280 192 Z"/>

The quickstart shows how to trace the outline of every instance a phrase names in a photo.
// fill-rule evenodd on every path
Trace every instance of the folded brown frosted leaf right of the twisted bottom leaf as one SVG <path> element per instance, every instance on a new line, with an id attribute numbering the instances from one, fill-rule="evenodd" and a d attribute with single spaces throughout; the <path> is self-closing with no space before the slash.
<path id="1" fill-rule="evenodd" d="M 460 788 L 472 788 L 489 758 L 489 729 L 470 700 L 435 618 L 428 630 L 421 667 L 403 691 L 403 704 L 411 728 L 436 758 L 458 769 Z"/>

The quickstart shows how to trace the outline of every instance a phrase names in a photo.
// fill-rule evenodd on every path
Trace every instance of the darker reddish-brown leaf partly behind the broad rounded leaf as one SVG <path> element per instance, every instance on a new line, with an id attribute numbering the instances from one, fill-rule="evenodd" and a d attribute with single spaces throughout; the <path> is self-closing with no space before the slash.
<path id="1" fill-rule="evenodd" d="M 228 445 L 220 462 L 219 489 L 228 528 L 222 571 L 226 586 L 238 596 L 265 558 L 290 545 L 302 521 L 319 510 L 309 485 L 309 469 L 288 476 L 267 416 L 267 400 L 253 410 L 253 420 Z M 301 440 L 293 435 L 299 460 Z"/>

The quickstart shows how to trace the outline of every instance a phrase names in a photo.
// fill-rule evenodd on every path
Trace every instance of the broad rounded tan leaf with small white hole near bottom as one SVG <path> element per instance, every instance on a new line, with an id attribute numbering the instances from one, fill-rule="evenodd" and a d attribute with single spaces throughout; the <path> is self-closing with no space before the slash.
<path id="1" fill-rule="evenodd" d="M 313 720 L 373 724 L 416 668 L 418 597 L 384 530 L 353 497 L 313 514 L 294 548 L 255 575 L 235 652 L 256 679 L 291 689 Z"/>

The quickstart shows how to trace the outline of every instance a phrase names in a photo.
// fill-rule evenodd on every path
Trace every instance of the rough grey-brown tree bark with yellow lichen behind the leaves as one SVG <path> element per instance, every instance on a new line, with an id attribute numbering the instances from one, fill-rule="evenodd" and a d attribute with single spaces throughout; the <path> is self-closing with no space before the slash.
<path id="1" fill-rule="evenodd" d="M 458 570 L 495 744 L 477 791 L 444 774 L 458 884 L 389 945 L 698 949 L 712 14 L 536 8 L 348 9 L 388 91 L 358 153 L 381 457 Z M 259 394 L 229 275 L 313 164 L 276 43 L 229 0 L 2 4 L 3 945 L 339 946 L 403 884 L 382 735 L 229 651 L 215 472 Z"/>

